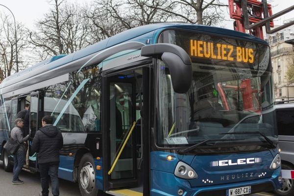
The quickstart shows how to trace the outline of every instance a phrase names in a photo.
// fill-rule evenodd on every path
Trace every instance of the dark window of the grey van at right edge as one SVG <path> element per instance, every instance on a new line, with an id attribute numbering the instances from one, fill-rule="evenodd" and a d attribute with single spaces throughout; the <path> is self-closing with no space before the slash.
<path id="1" fill-rule="evenodd" d="M 294 136 L 294 110 L 278 110 L 276 117 L 278 134 Z"/>

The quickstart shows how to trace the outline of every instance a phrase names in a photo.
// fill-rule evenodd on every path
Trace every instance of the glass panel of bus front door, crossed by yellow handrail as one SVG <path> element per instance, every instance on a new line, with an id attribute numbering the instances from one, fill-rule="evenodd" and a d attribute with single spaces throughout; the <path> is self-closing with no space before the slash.
<path id="1" fill-rule="evenodd" d="M 133 124 L 132 83 L 110 83 L 110 157 L 113 165 L 123 146 L 127 133 Z M 132 178 L 133 145 L 132 137 L 127 141 L 123 152 L 111 173 L 111 179 Z"/>

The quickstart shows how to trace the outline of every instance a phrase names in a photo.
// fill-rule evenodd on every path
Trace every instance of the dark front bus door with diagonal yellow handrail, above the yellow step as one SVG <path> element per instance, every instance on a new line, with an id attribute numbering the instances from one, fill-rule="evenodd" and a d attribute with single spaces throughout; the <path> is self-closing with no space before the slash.
<path id="1" fill-rule="evenodd" d="M 106 79 L 107 128 L 103 134 L 106 134 L 108 149 L 103 161 L 107 170 L 104 184 L 108 190 L 138 187 L 141 128 L 136 123 L 140 122 L 139 105 L 142 105 L 136 104 L 136 100 L 142 100 L 138 80 L 142 82 L 142 69 L 112 74 Z"/>

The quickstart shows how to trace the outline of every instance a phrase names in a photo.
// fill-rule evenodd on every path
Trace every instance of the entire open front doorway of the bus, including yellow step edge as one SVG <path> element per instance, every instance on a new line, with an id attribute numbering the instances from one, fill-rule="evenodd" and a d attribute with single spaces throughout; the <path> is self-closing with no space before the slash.
<path id="1" fill-rule="evenodd" d="M 149 137 L 145 140 L 147 126 L 143 126 L 147 112 L 143 110 L 143 95 L 147 90 L 143 80 L 147 75 L 149 68 L 139 68 L 111 74 L 105 79 L 107 104 L 103 111 L 107 112 L 104 121 L 107 127 L 103 138 L 107 139 L 107 149 L 103 150 L 103 179 L 106 193 L 111 195 L 143 196 L 143 191 L 147 192 L 145 195 L 149 192 L 149 170 L 143 163 L 143 156 L 147 163 L 149 156 L 148 145 L 143 145 L 149 140 Z"/>

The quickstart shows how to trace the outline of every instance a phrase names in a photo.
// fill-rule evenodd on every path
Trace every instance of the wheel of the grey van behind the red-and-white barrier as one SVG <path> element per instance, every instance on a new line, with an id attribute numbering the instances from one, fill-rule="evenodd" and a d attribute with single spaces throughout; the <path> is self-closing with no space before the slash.
<path id="1" fill-rule="evenodd" d="M 293 167 L 289 165 L 282 164 L 282 170 L 294 170 Z M 294 185 L 292 179 L 282 179 L 283 186 L 281 189 L 275 190 L 277 196 L 294 196 Z"/>

